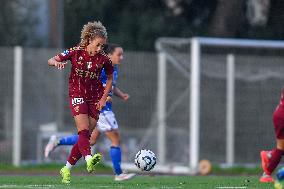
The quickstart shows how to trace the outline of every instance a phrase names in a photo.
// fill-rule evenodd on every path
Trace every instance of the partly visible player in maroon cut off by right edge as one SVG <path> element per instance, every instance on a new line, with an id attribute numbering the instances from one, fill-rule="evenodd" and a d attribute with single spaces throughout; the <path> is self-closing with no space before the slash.
<path id="1" fill-rule="evenodd" d="M 263 174 L 259 179 L 260 182 L 274 182 L 271 174 L 284 154 L 284 89 L 282 90 L 280 103 L 273 113 L 273 124 L 276 136 L 276 148 L 260 152 L 263 169 Z"/>

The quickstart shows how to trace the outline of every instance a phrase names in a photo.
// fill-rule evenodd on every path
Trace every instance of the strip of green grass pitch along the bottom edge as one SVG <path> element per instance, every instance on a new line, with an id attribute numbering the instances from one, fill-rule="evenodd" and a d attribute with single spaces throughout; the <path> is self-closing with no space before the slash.
<path id="1" fill-rule="evenodd" d="M 269 189 L 273 184 L 258 182 L 257 176 L 147 176 L 137 175 L 123 182 L 113 176 L 72 175 L 70 185 L 61 184 L 59 176 L 0 175 L 1 188 L 40 189 Z"/>

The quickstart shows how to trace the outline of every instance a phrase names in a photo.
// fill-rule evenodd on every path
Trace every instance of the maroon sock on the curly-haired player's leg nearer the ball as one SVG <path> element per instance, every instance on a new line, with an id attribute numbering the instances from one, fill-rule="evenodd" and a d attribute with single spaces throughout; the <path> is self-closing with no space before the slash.
<path id="1" fill-rule="evenodd" d="M 81 154 L 85 157 L 87 155 L 91 155 L 91 147 L 90 147 L 90 133 L 89 130 L 84 129 L 78 132 L 78 147 Z"/>

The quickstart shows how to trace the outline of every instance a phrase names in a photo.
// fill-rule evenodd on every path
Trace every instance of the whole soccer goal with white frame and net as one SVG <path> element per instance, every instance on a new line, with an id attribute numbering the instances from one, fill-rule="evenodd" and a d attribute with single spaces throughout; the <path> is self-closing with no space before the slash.
<path id="1" fill-rule="evenodd" d="M 160 38 L 156 49 L 164 162 L 193 172 L 201 159 L 259 163 L 260 150 L 275 145 L 272 113 L 284 81 L 284 42 Z"/>

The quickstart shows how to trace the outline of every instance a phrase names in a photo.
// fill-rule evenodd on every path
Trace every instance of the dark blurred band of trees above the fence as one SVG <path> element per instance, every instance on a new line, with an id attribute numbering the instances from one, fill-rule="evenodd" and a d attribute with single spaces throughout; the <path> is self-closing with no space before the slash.
<path id="1" fill-rule="evenodd" d="M 255 1 L 261 0 L 64 0 L 64 46 L 78 44 L 83 24 L 93 20 L 107 27 L 110 42 L 128 50 L 152 51 L 158 37 L 283 39 L 284 1 L 269 0 L 264 21 L 254 22 L 247 13 L 254 15 L 248 2 Z M 49 2 L 2 0 L 0 45 L 52 46 L 49 38 L 57 40 L 61 30 L 48 27 L 61 22 L 50 22 Z"/>

